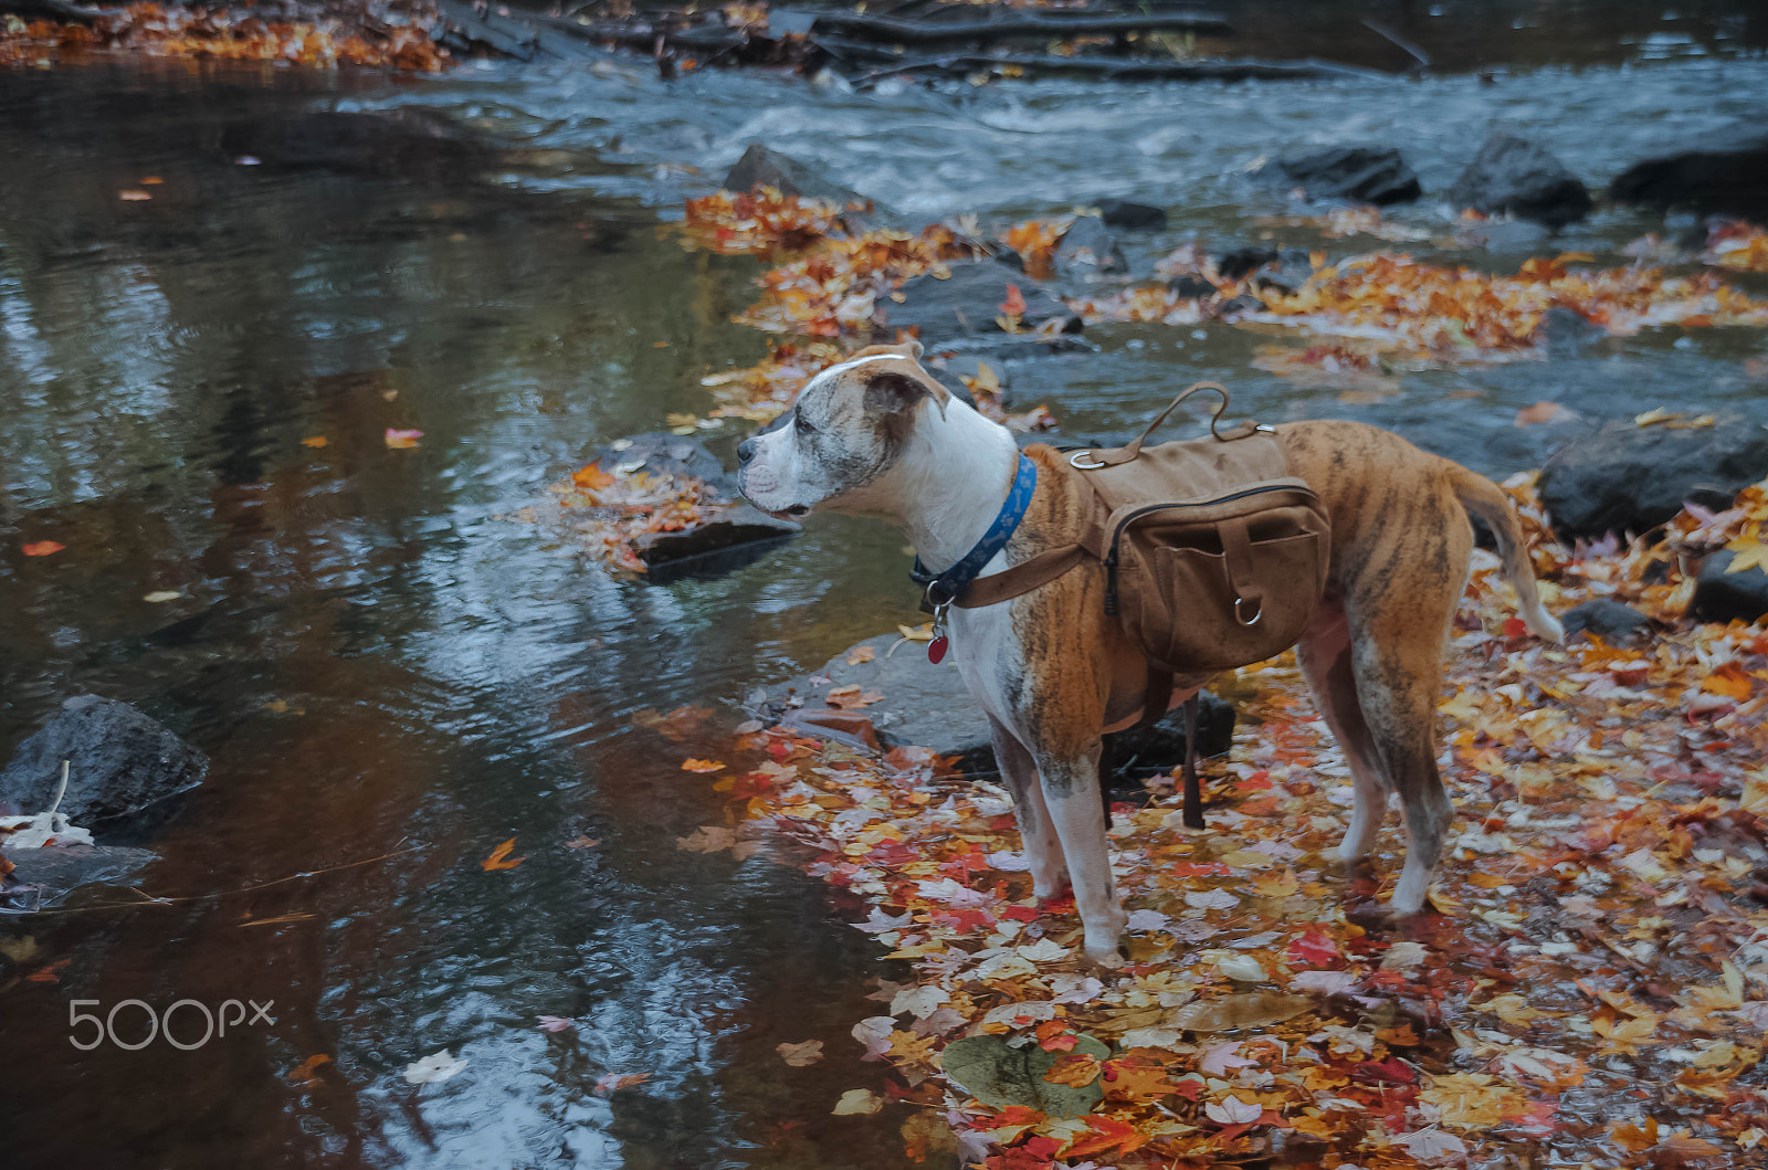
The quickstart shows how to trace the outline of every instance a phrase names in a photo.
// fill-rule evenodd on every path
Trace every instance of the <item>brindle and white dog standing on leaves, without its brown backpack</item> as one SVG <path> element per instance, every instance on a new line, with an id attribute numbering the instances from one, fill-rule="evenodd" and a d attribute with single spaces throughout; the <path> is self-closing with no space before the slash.
<path id="1" fill-rule="evenodd" d="M 955 564 L 988 530 L 1013 482 L 1013 435 L 955 399 L 919 366 L 921 345 L 872 346 L 804 387 L 783 426 L 737 449 L 743 493 L 767 513 L 879 516 L 921 560 Z M 1354 802 L 1340 857 L 1361 861 L 1397 792 L 1406 866 L 1390 903 L 1423 907 L 1453 809 L 1437 776 L 1436 707 L 1450 620 L 1467 583 L 1473 528 L 1497 537 L 1528 627 L 1561 640 L 1540 604 L 1522 534 L 1503 493 L 1457 463 L 1358 422 L 1276 428 L 1292 475 L 1331 520 L 1326 597 L 1298 656 L 1351 765 Z M 1050 447 L 1031 447 L 1038 490 L 987 573 L 1070 544 L 1084 502 Z M 988 712 L 1040 898 L 1073 885 L 1087 954 L 1119 965 L 1124 912 L 1100 818 L 1100 733 L 1142 710 L 1146 665 L 1105 615 L 1093 560 L 1011 601 L 953 610 L 958 672 Z M 1179 679 L 1174 703 L 1206 679 Z M 1066 882 L 1064 882 L 1066 878 Z"/>

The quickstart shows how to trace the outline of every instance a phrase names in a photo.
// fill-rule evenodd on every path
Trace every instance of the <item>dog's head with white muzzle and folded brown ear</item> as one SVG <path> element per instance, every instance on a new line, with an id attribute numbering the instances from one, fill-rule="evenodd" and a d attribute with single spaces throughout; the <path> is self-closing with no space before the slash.
<path id="1" fill-rule="evenodd" d="M 921 369 L 921 343 L 873 345 L 812 378 L 774 426 L 737 447 L 737 488 L 764 513 L 872 511 L 923 410 L 951 392 Z"/>

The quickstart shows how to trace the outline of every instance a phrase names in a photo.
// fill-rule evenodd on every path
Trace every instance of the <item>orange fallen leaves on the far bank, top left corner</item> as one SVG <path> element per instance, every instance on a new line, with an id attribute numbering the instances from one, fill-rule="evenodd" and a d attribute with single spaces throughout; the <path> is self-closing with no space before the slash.
<path id="1" fill-rule="evenodd" d="M 53 65 L 95 49 L 149 57 L 290 62 L 313 69 L 377 65 L 435 72 L 449 64 L 430 39 L 428 0 L 343 0 L 263 7 L 101 9 L 90 25 L 23 21 L 0 28 L 0 65 Z"/>

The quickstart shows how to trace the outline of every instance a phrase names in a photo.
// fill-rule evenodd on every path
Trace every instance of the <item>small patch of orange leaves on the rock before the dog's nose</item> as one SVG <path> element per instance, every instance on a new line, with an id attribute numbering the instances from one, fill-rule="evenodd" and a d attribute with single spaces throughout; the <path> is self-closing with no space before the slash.
<path id="1" fill-rule="evenodd" d="M 546 491 L 555 497 L 550 507 L 523 507 L 513 520 L 562 528 L 573 544 L 628 573 L 645 571 L 640 546 L 647 534 L 686 532 L 727 507 L 700 479 L 624 463 L 612 470 L 591 463 Z"/>

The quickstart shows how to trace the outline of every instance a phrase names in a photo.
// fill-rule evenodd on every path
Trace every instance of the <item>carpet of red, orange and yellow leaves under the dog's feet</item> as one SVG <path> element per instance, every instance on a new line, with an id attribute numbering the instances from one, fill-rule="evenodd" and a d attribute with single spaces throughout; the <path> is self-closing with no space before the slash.
<path id="1" fill-rule="evenodd" d="M 1681 612 L 1690 553 L 1759 548 L 1768 484 L 1660 544 L 1575 550 L 1529 477 L 1506 486 L 1552 608 L 1619 597 L 1662 633 L 1542 645 L 1478 553 L 1441 707 L 1457 818 L 1411 923 L 1370 914 L 1397 825 L 1379 878 L 1330 861 L 1349 769 L 1292 656 L 1218 682 L 1241 728 L 1206 832 L 1169 778 L 1114 806 L 1123 970 L 1087 965 L 1071 903 L 1031 896 L 1006 794 L 926 749 L 750 723 L 734 764 L 695 760 L 732 815 L 691 847 L 801 841 L 912 970 L 854 1027 L 884 1094 L 834 1112 L 900 1110 L 912 1159 L 942 1119 L 988 1170 L 1759 1165 L 1768 631 Z"/>

